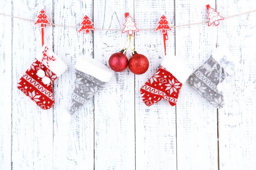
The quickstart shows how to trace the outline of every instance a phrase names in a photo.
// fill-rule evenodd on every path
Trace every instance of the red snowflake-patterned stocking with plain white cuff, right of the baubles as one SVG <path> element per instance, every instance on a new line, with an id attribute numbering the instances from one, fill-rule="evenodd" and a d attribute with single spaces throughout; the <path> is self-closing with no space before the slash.
<path id="1" fill-rule="evenodd" d="M 177 57 L 165 55 L 157 72 L 141 86 L 143 102 L 151 106 L 162 99 L 175 106 L 182 84 L 191 74 L 191 70 Z"/>

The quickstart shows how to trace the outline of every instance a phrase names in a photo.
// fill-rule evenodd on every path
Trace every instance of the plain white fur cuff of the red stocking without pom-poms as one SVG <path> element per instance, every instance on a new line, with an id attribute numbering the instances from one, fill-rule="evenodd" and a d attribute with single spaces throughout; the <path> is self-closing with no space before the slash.
<path id="1" fill-rule="evenodd" d="M 192 70 L 179 60 L 178 57 L 175 57 L 175 55 L 166 54 L 161 66 L 166 68 L 166 70 L 168 70 L 182 84 L 192 73 Z"/>

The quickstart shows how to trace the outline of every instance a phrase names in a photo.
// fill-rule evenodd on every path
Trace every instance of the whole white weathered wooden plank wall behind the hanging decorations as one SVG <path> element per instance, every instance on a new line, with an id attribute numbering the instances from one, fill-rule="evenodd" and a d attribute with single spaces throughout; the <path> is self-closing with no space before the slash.
<path id="1" fill-rule="evenodd" d="M 56 24 L 79 26 L 86 14 L 105 30 L 85 35 L 47 26 L 45 44 L 69 68 L 54 83 L 54 107 L 45 111 L 16 88 L 40 48 L 40 29 L 0 15 L 0 170 L 256 170 L 256 13 L 222 20 L 218 27 L 198 24 L 169 32 L 168 51 L 191 69 L 216 45 L 238 60 L 224 108 L 211 106 L 187 83 L 177 106 L 144 105 L 139 88 L 164 55 L 162 34 L 147 30 L 136 33 L 135 46 L 148 57 L 148 71 L 115 73 L 70 123 L 61 124 L 71 104 L 77 57 L 108 65 L 127 35 L 106 29 L 122 29 L 125 12 L 139 29 L 153 29 L 162 14 L 172 26 L 203 22 L 206 3 L 224 17 L 255 9 L 254 0 L 1 0 L 0 13 L 35 20 L 44 7 Z"/>

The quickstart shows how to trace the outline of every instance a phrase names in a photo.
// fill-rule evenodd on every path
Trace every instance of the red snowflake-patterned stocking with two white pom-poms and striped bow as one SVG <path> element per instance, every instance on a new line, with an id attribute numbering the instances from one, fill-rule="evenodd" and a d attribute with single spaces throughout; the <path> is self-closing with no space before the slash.
<path id="1" fill-rule="evenodd" d="M 66 64 L 47 46 L 43 46 L 17 87 L 40 108 L 49 109 L 54 104 L 53 82 L 66 69 Z"/>

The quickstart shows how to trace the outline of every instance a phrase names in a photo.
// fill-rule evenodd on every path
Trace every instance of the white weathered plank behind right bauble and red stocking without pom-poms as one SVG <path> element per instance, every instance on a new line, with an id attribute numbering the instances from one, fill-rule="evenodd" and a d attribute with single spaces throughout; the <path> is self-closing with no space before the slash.
<path id="1" fill-rule="evenodd" d="M 155 29 L 164 14 L 171 25 L 174 21 L 174 0 L 135 0 L 135 22 L 138 29 Z M 136 169 L 176 170 L 176 118 L 175 107 L 162 100 L 146 106 L 141 99 L 140 88 L 155 74 L 164 57 L 163 35 L 160 31 L 135 33 L 136 51 L 148 57 L 150 66 L 143 75 L 135 75 L 135 130 Z M 167 50 L 175 53 L 174 31 L 168 32 Z"/>

